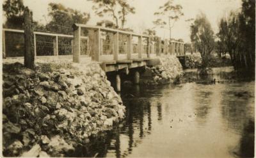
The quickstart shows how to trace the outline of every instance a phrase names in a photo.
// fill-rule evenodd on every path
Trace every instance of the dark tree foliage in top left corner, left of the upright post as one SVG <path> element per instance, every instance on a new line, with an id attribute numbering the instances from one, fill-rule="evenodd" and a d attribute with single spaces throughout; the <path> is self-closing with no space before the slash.
<path id="1" fill-rule="evenodd" d="M 22 29 L 24 5 L 22 0 L 6 0 L 3 3 L 6 28 Z"/>

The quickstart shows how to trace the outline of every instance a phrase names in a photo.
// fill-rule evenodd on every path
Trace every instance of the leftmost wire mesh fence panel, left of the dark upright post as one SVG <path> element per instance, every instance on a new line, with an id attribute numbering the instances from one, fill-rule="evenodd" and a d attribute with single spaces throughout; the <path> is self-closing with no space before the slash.
<path id="1" fill-rule="evenodd" d="M 24 56 L 24 33 L 5 31 L 6 57 Z"/>

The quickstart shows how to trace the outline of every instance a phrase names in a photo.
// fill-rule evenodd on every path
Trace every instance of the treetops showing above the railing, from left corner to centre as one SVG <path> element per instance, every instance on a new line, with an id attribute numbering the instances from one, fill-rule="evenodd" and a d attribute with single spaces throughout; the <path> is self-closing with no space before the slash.
<path id="1" fill-rule="evenodd" d="M 127 0 L 90 1 L 94 3 L 93 10 L 95 10 L 96 15 L 99 17 L 111 15 L 115 21 L 105 19 L 97 22 L 97 25 L 103 26 L 106 24 L 108 28 L 131 30 L 125 28 L 125 24 L 127 22 L 127 15 L 129 13 L 135 13 L 135 8 L 127 3 Z M 6 16 L 6 22 L 3 24 L 4 28 L 24 29 L 24 4 L 22 0 L 4 1 L 3 11 Z M 36 21 L 33 22 L 35 31 L 72 34 L 72 24 L 86 24 L 90 19 L 90 13 L 80 12 L 60 3 L 49 3 L 48 16 L 50 20 L 45 25 Z M 45 20 L 47 19 L 45 18 Z"/>

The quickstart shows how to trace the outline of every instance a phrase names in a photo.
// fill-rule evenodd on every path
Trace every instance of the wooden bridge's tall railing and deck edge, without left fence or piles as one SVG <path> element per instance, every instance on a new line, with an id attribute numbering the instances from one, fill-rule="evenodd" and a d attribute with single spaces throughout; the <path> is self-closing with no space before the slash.
<path id="1" fill-rule="evenodd" d="M 81 34 L 85 31 L 92 59 L 99 61 L 106 72 L 143 67 L 164 54 L 184 56 L 182 42 L 162 42 L 161 38 L 153 41 L 147 35 L 84 24 L 74 24 L 73 29 L 74 62 L 81 60 Z"/>

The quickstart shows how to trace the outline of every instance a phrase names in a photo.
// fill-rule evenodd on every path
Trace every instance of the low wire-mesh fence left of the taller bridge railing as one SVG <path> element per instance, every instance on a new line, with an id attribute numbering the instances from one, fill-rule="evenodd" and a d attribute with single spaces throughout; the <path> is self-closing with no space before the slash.
<path id="1" fill-rule="evenodd" d="M 34 31 L 35 56 L 72 55 L 73 35 Z M 81 36 L 81 54 L 88 54 L 88 38 Z M 3 29 L 3 52 L 6 57 L 24 56 L 24 31 Z"/>

